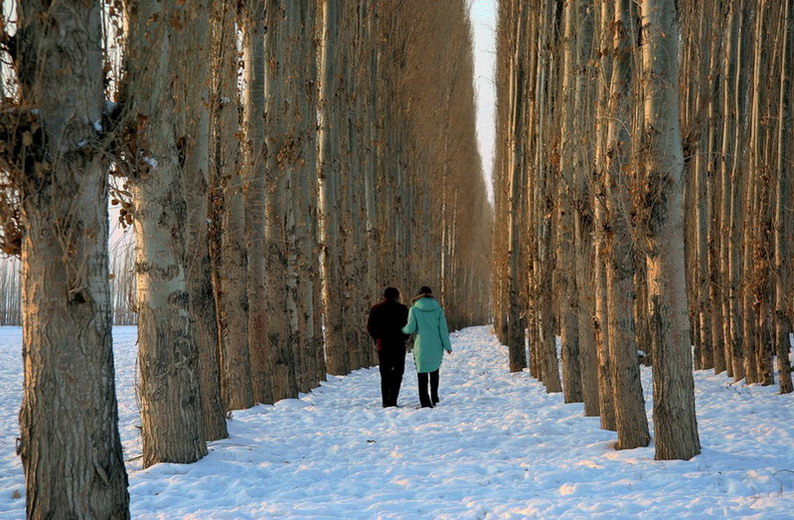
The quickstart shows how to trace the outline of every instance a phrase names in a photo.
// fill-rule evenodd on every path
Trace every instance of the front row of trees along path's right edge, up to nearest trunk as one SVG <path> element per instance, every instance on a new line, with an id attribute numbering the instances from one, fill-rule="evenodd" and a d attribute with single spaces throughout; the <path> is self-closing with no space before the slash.
<path id="1" fill-rule="evenodd" d="M 503 0 L 499 12 L 497 334 L 511 370 L 583 402 L 618 449 L 650 442 L 639 364 L 651 364 L 658 459 L 700 452 L 688 282 L 703 264 L 685 229 L 692 154 L 719 159 L 682 134 L 688 100 L 714 85 L 686 68 L 703 63 L 701 5 Z"/>

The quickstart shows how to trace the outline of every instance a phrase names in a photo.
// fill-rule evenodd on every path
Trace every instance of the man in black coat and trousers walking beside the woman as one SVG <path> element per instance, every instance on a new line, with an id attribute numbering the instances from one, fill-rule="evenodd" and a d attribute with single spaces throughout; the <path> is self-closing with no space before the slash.
<path id="1" fill-rule="evenodd" d="M 367 332 L 375 341 L 380 361 L 380 389 L 383 407 L 397 406 L 397 396 L 405 372 L 405 340 L 402 329 L 408 322 L 408 307 L 400 303 L 400 291 L 387 287 L 383 301 L 372 306 Z"/>

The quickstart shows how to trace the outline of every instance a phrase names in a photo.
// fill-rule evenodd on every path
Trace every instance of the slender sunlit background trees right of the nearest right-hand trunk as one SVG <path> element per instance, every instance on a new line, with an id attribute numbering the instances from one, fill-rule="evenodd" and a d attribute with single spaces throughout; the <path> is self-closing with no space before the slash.
<path id="1" fill-rule="evenodd" d="M 792 391 L 791 0 L 682 4 L 695 366 Z M 773 357 L 777 366 L 773 366 Z"/>

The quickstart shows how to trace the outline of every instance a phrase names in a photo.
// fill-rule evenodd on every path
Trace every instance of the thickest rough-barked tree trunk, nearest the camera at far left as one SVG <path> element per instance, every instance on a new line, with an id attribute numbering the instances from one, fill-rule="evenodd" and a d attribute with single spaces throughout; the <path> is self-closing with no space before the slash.
<path id="1" fill-rule="evenodd" d="M 24 390 L 19 414 L 26 512 L 129 518 L 118 432 L 108 286 L 108 177 L 99 2 L 18 4 L 19 94 L 43 142 L 24 164 Z M 96 122 L 96 123 L 95 123 Z M 86 143 L 88 143 L 86 145 Z M 42 174 L 46 172 L 46 174 Z"/>

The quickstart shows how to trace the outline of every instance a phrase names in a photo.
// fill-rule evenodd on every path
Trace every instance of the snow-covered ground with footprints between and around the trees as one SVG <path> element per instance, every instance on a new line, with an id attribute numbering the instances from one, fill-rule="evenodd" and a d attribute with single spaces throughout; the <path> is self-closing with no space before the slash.
<path id="1" fill-rule="evenodd" d="M 435 409 L 417 409 L 410 362 L 399 409 L 380 407 L 377 369 L 359 370 L 301 399 L 234 412 L 230 438 L 195 464 L 143 470 L 135 329 L 114 333 L 134 518 L 794 516 L 794 406 L 776 386 L 698 373 L 703 453 L 654 461 L 653 447 L 614 451 L 615 434 L 582 417 L 581 404 L 510 374 L 487 327 L 453 335 Z M 24 517 L 20 341 L 18 328 L 0 329 L 0 518 Z M 647 369 L 643 385 L 650 418 Z"/>

